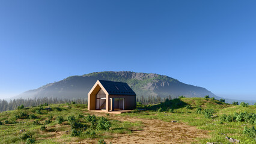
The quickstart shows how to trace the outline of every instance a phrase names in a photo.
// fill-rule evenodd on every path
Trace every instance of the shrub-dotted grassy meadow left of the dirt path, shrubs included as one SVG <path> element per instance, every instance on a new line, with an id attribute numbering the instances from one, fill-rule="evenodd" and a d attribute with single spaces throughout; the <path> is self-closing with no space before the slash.
<path id="1" fill-rule="evenodd" d="M 46 104 L 47 105 L 47 104 Z M 46 110 L 48 107 L 51 110 Z M 64 143 L 111 139 L 141 130 L 141 122 L 89 115 L 84 104 L 50 104 L 0 113 L 0 143 Z M 24 130 L 24 131 L 22 131 Z"/>

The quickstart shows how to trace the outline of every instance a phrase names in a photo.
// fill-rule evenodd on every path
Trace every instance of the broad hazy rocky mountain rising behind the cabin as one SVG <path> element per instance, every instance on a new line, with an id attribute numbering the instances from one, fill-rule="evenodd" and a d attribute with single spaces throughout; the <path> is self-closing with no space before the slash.
<path id="1" fill-rule="evenodd" d="M 138 97 L 144 95 L 153 95 L 166 97 L 217 97 L 212 92 L 199 86 L 187 85 L 179 82 L 172 77 L 163 76 L 153 73 L 135 73 L 131 71 L 104 71 L 89 73 L 83 76 L 70 76 L 59 82 L 49 83 L 38 89 L 23 92 L 15 98 L 87 98 L 87 94 L 93 87 L 94 83 L 100 80 L 111 80 L 116 82 L 126 82 L 133 88 Z"/>

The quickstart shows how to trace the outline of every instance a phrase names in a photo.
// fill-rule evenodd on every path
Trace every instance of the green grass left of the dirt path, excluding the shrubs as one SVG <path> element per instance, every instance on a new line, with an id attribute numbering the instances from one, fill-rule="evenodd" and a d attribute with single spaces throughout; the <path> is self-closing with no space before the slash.
<path id="1" fill-rule="evenodd" d="M 70 108 L 68 108 L 71 107 Z M 52 111 L 44 110 L 46 107 L 51 107 Z M 41 114 L 37 114 L 37 110 L 41 109 Z M 108 139 L 114 137 L 114 134 L 130 134 L 133 130 L 141 130 L 143 127 L 141 122 L 121 122 L 117 120 L 109 119 L 111 127 L 109 130 L 93 130 L 88 127 L 87 130 L 82 131 L 79 136 L 72 137 L 70 134 L 71 126 L 67 121 L 68 116 L 75 116 L 77 121 L 81 124 L 90 126 L 84 118 L 79 115 L 87 116 L 87 106 L 84 104 L 50 104 L 43 107 L 28 107 L 25 109 L 11 110 L 0 113 L 0 121 L 3 122 L 0 125 L 0 143 L 25 143 L 26 140 L 20 139 L 22 134 L 28 134 L 35 140 L 34 143 L 63 143 L 63 142 L 76 142 L 82 139 L 99 138 Z M 35 119 L 29 119 L 29 116 L 25 118 L 17 118 L 20 113 L 26 113 L 28 115 L 35 115 Z M 50 119 L 50 116 L 52 118 Z M 56 120 L 57 116 L 62 116 L 64 122 L 58 124 Z M 108 116 L 106 116 L 108 118 Z M 46 130 L 41 131 L 40 128 L 44 125 L 46 120 L 50 119 L 50 124 L 46 124 Z M 99 118 L 97 118 L 99 119 Z M 8 121 L 9 124 L 4 122 Z M 38 121 L 40 125 L 33 124 L 33 121 Z M 20 132 L 20 130 L 25 130 Z M 68 131 L 66 133 L 66 131 Z M 94 135 L 87 134 L 87 131 L 94 131 Z M 60 133 L 61 136 L 56 137 L 56 133 Z"/>

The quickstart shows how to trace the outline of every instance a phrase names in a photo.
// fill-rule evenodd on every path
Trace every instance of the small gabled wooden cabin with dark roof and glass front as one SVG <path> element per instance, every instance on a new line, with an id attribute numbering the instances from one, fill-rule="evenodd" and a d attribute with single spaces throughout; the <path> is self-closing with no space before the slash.
<path id="1" fill-rule="evenodd" d="M 97 80 L 88 93 L 88 110 L 133 110 L 136 94 L 127 83 Z"/>

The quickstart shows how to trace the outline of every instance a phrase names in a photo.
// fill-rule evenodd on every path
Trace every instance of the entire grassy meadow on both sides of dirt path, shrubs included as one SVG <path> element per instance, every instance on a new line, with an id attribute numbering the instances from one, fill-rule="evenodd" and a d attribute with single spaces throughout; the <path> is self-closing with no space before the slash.
<path id="1" fill-rule="evenodd" d="M 50 109 L 49 109 L 50 107 Z M 256 106 L 226 104 L 212 98 L 176 98 L 120 116 L 182 122 L 208 131 L 198 142 L 229 143 L 225 136 L 240 143 L 256 143 Z M 142 110 L 141 110 L 142 109 Z M 90 115 L 84 104 L 43 104 L 19 107 L 0 113 L 0 143 L 64 143 L 83 139 L 112 139 L 118 134 L 143 130 L 143 121 L 118 121 L 109 115 Z M 197 142 L 197 143 L 198 143 Z"/>

